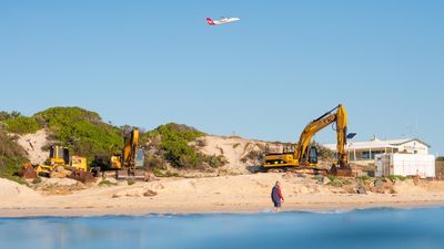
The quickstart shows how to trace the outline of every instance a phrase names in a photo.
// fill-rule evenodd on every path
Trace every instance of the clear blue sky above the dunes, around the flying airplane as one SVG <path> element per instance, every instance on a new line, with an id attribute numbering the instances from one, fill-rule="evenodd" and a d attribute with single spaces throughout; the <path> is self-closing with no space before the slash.
<path id="1" fill-rule="evenodd" d="M 0 110 L 295 142 L 339 103 L 356 141 L 444 154 L 444 2 L 1 1 Z M 240 22 L 209 27 L 205 18 Z M 329 127 L 316 135 L 333 143 Z"/>

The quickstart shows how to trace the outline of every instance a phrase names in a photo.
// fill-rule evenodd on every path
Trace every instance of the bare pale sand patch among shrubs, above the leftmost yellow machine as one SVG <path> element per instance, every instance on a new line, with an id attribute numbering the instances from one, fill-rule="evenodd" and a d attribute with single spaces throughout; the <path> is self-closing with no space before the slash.
<path id="1" fill-rule="evenodd" d="M 27 134 L 19 136 L 17 141 L 20 146 L 27 152 L 27 157 L 31 164 L 41 164 L 48 157 L 48 152 L 42 151 L 48 141 L 48 133 L 44 129 L 40 129 L 33 134 Z"/>

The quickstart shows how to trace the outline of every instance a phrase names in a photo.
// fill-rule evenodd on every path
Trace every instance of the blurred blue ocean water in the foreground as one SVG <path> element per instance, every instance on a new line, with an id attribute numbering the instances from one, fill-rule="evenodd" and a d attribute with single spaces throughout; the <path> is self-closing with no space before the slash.
<path id="1" fill-rule="evenodd" d="M 0 218 L 1 249 L 444 248 L 444 208 Z"/>

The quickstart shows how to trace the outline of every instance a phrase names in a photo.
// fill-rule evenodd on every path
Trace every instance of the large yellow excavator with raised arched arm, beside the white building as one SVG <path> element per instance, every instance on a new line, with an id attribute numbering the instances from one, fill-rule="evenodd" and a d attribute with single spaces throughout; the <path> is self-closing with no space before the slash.
<path id="1" fill-rule="evenodd" d="M 337 163 L 332 166 L 330 174 L 352 176 L 347 154 L 345 152 L 347 115 L 344 106 L 341 104 L 306 125 L 294 149 L 285 149 L 282 153 L 266 152 L 263 167 L 265 169 L 284 167 L 316 169 L 317 151 L 314 146 L 309 148 L 311 139 L 317 132 L 333 123 L 336 123 Z"/>

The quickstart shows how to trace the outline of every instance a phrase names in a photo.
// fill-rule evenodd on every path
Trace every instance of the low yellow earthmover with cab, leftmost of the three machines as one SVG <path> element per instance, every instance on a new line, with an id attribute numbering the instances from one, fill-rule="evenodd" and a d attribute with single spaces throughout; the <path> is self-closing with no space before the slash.
<path id="1" fill-rule="evenodd" d="M 23 164 L 19 175 L 24 178 L 48 176 L 56 178 L 72 178 L 82 183 L 94 180 L 88 170 L 87 158 L 70 156 L 68 147 L 52 145 L 49 149 L 49 157 L 39 165 Z"/>

